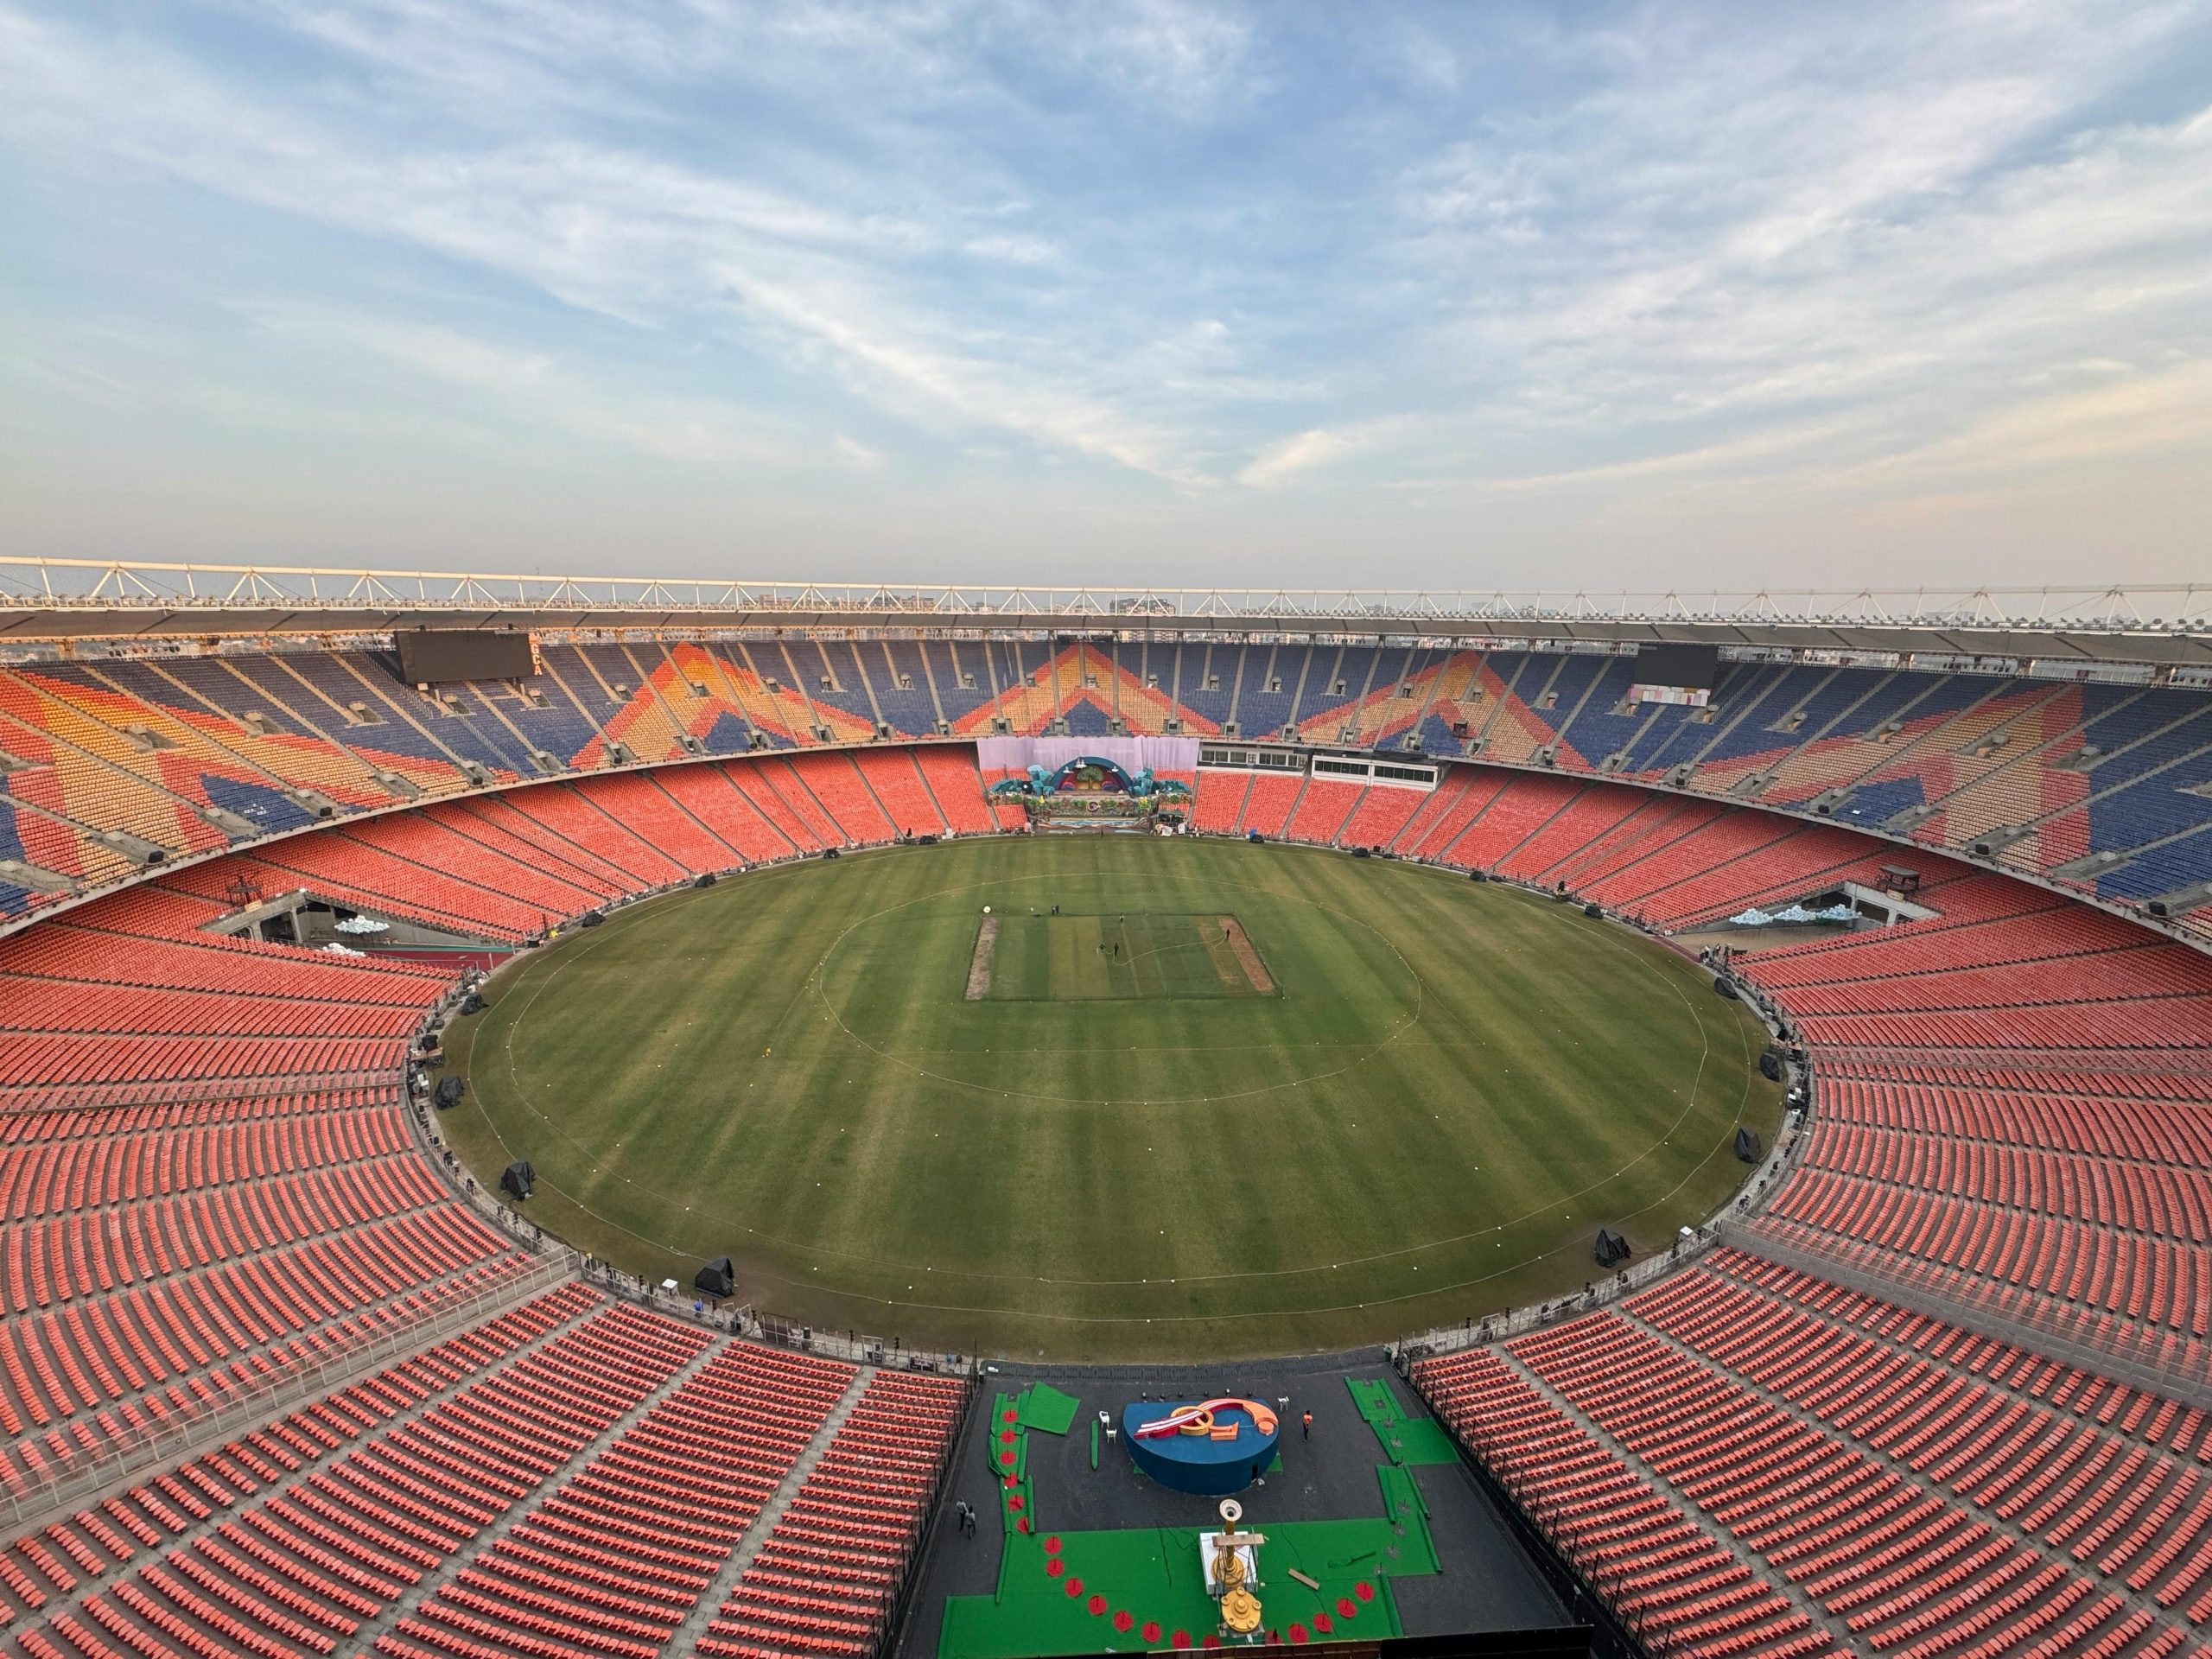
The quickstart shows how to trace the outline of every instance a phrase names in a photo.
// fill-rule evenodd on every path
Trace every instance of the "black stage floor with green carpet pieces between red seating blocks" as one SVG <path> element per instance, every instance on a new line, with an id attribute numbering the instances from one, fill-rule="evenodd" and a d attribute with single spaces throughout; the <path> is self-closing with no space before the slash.
<path id="1" fill-rule="evenodd" d="M 1022 1405 L 1031 1383 L 1077 1400 L 1066 1436 L 1031 1427 L 1035 1413 Z M 1237 1500 L 1241 1524 L 1270 1535 L 1259 1595 L 1279 1639 L 1475 1635 L 1495 1652 L 1586 1652 L 1586 1632 L 1573 1630 L 1577 1621 L 1511 1522 L 1458 1458 L 1433 1460 L 1429 1431 L 1405 1431 L 1425 1425 L 1427 1409 L 1380 1352 L 1365 1352 L 1188 1369 L 1006 1365 L 989 1374 L 900 1621 L 900 1659 L 1130 1652 L 1172 1648 L 1177 1628 L 1192 1646 L 1212 1630 L 1192 1562 L 1199 1533 L 1221 1524 L 1219 1500 L 1146 1478 L 1119 1433 L 1113 1442 L 1097 1436 L 1093 1467 L 1097 1413 L 1108 1411 L 1119 1431 L 1124 1407 L 1144 1396 L 1161 1411 L 1217 1396 L 1276 1409 L 1279 1453 Z M 1312 1440 L 1301 1433 L 1305 1411 L 1314 1413 Z M 1015 1438 L 1002 1440 L 1009 1431 Z M 1015 1455 L 1013 1489 L 995 1473 L 1006 1451 Z M 1009 1509 L 1009 1498 L 1020 1498 L 1020 1509 Z M 949 1520 L 958 1500 L 982 1515 L 975 1537 Z M 1325 1590 L 1301 1586 L 1292 1566 Z M 1082 1586 L 1075 1595 L 1071 1579 Z M 1352 1613 L 1338 1613 L 1338 1601 Z"/>

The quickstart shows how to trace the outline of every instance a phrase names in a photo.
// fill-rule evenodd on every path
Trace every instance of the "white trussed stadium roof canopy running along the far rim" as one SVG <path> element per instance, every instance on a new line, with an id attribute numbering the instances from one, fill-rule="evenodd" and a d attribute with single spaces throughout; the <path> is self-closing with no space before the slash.
<path id="1" fill-rule="evenodd" d="M 1376 635 L 2212 666 L 2212 584 L 1834 593 L 894 588 L 0 557 L 0 641 L 394 628 Z"/>

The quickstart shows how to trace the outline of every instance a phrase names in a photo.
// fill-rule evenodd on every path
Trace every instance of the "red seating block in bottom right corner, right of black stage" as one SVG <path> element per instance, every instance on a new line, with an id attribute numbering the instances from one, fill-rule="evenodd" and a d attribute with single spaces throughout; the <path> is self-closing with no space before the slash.
<path id="1" fill-rule="evenodd" d="M 2168 1655 L 2212 1613 L 2199 1413 L 1754 1256 L 1416 1383 L 1637 1624 L 1743 1564 L 1809 1624 L 1767 1646 Z"/>

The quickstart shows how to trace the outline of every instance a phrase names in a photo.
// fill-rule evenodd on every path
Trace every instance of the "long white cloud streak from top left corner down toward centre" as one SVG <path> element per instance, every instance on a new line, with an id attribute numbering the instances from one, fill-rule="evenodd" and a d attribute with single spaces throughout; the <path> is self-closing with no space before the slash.
<path id="1" fill-rule="evenodd" d="M 95 60 L 62 31 L 11 24 L 0 64 L 24 91 L 18 126 L 91 137 L 84 111 L 97 106 L 104 144 L 204 188 L 467 259 L 637 325 L 765 319 L 774 327 L 763 338 L 790 347 L 794 363 L 827 347 L 852 387 L 925 427 L 951 414 L 960 427 L 1197 482 L 1166 431 L 1086 398 L 1071 365 L 1048 352 L 991 352 L 995 323 L 931 314 L 889 292 L 885 263 L 942 252 L 942 226 L 577 142 L 363 153 L 310 117 L 241 119 L 186 64 Z M 1006 234 L 964 246 L 1009 263 L 1046 252 L 1042 239 Z"/>

